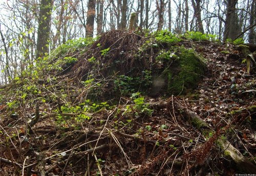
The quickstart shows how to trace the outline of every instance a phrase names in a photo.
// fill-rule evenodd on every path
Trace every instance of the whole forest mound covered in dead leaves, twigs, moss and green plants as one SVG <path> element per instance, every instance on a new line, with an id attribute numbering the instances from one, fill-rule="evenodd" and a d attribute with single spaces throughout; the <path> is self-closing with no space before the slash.
<path id="1" fill-rule="evenodd" d="M 0 87 L 0 175 L 256 174 L 254 44 L 111 30 Z"/>

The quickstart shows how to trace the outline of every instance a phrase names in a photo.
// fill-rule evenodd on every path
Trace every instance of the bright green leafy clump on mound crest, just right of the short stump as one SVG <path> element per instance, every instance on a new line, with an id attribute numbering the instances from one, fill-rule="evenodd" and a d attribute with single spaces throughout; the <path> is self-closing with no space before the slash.
<path id="1" fill-rule="evenodd" d="M 160 43 L 176 43 L 181 41 L 176 35 L 172 34 L 171 32 L 164 30 L 158 31 L 156 33 L 156 40 Z"/>

